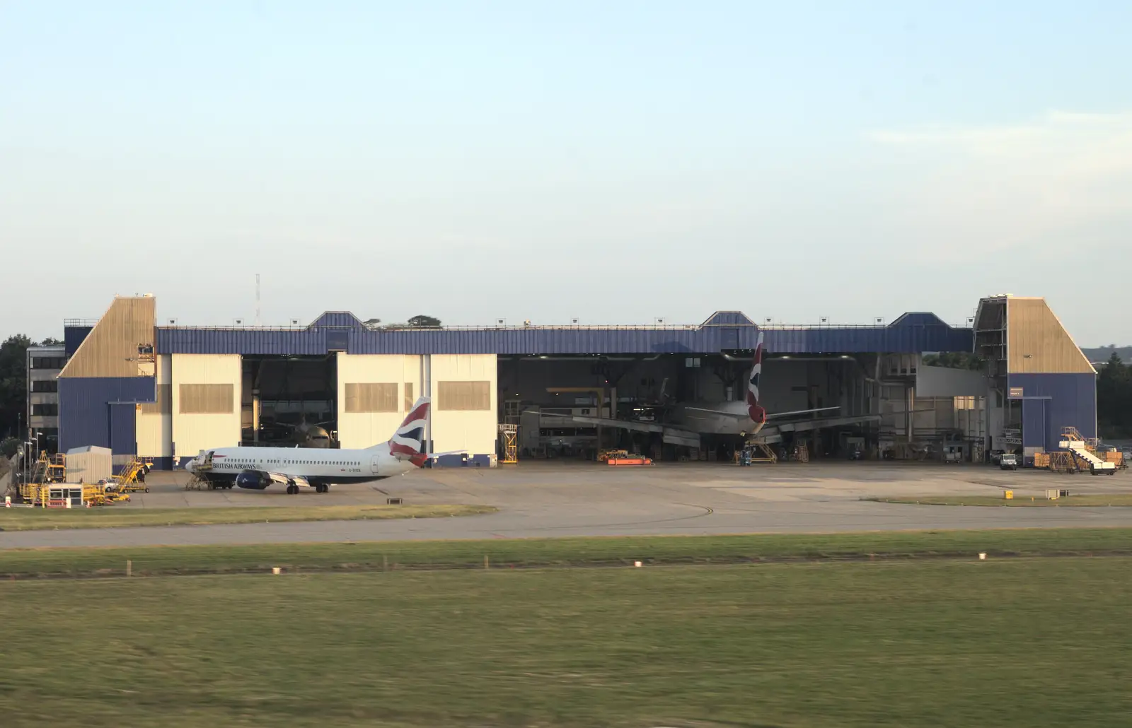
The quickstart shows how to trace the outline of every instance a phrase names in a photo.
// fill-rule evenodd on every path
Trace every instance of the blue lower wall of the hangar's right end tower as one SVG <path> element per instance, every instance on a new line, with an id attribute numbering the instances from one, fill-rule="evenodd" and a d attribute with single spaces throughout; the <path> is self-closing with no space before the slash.
<path id="1" fill-rule="evenodd" d="M 1063 427 L 1077 427 L 1086 437 L 1097 436 L 1096 374 L 1011 374 L 1007 385 L 1022 389 L 1023 445 L 1056 450 Z M 1030 409 L 1031 397 L 1048 398 L 1044 400 L 1044 425 L 1038 425 Z M 1029 422 L 1028 416 L 1035 419 Z M 1043 432 L 1028 432 L 1034 428 Z"/>

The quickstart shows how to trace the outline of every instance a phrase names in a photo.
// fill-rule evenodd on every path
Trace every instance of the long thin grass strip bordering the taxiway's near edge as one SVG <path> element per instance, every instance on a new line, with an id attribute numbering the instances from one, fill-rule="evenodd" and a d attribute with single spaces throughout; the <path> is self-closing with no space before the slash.
<path id="1" fill-rule="evenodd" d="M 736 563 L 815 558 L 1132 555 L 1132 529 L 658 536 L 0 551 L 0 578 Z"/>

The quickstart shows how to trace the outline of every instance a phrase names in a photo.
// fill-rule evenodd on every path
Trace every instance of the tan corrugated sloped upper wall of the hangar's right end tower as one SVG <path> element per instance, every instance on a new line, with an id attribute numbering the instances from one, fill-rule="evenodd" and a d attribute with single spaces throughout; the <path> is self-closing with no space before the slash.
<path id="1" fill-rule="evenodd" d="M 1044 298 L 1006 300 L 1006 355 L 1011 373 L 1095 373 Z"/>

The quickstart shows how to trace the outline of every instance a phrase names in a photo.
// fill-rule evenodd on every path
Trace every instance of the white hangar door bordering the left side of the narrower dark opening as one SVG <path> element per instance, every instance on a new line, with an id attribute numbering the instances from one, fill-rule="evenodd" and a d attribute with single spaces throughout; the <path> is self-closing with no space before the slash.
<path id="1" fill-rule="evenodd" d="M 170 400 L 177 457 L 240 444 L 240 355 L 173 354 Z"/>

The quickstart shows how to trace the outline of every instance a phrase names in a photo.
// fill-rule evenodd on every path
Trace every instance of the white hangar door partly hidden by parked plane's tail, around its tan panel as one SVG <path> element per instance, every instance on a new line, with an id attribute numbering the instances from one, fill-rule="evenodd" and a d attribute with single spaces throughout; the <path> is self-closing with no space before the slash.
<path id="1" fill-rule="evenodd" d="M 421 395 L 421 357 L 337 355 L 338 441 L 343 448 L 369 448 L 388 440 L 408 414 L 405 385 L 414 398 Z M 383 411 L 348 411 L 349 384 L 395 384 L 397 409 Z M 409 406 L 412 406 L 411 402 Z"/>

